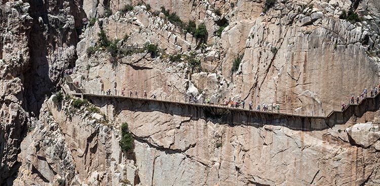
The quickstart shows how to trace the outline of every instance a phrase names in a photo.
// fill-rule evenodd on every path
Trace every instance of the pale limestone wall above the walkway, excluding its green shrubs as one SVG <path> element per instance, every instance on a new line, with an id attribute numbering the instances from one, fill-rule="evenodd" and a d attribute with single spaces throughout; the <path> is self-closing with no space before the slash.
<path id="1" fill-rule="evenodd" d="M 172 12 L 181 8 L 183 11 L 176 12 L 184 22 L 196 20 L 198 25 L 206 24 L 209 36 L 204 50 L 191 34 L 155 13 L 164 2 Z M 255 106 L 280 105 L 287 112 L 314 115 L 326 115 L 338 109 L 341 102 L 348 102 L 352 95 L 357 96 L 378 82 L 380 30 L 374 2 L 362 1 L 356 5 L 347 1 L 280 1 L 266 13 L 258 11 L 264 6 L 261 1 L 203 2 L 201 5 L 207 9 L 202 10 L 206 11 L 205 16 L 197 13 L 201 5 L 164 2 L 146 1 L 150 10 L 142 5 L 127 13 L 122 13 L 120 7 L 128 2 L 109 2 L 106 7 L 110 6 L 113 15 L 99 18 L 94 26 L 89 26 L 78 45 L 79 73 L 73 78 L 83 87 L 98 91 L 102 82 L 103 89 L 126 88 L 138 92 L 145 89 L 166 99 L 184 99 L 191 92 L 200 102 L 206 97 L 214 103 L 229 98 L 244 99 Z M 363 21 L 339 19 L 342 11 L 350 8 L 363 15 Z M 220 16 L 215 14 L 217 9 L 221 11 Z M 199 16 L 194 18 L 194 14 Z M 223 19 L 229 25 L 218 37 L 215 31 Z M 158 44 L 163 55 L 150 59 L 149 55 L 138 54 L 115 60 L 101 52 L 89 57 L 86 49 L 95 45 L 100 28 L 109 38 L 121 39 L 118 43 L 121 47 L 141 47 L 151 42 Z M 130 37 L 124 40 L 126 34 Z M 191 72 L 186 63 L 171 63 L 168 59 L 168 55 L 189 51 L 197 52 L 203 72 Z M 243 56 L 242 62 L 237 72 L 232 72 L 238 56 Z M 123 67 L 125 64 L 131 70 Z M 110 67 L 116 77 L 97 74 L 97 69 Z M 171 73 L 173 69 L 175 75 Z M 177 82 L 175 88 L 167 79 Z"/>

